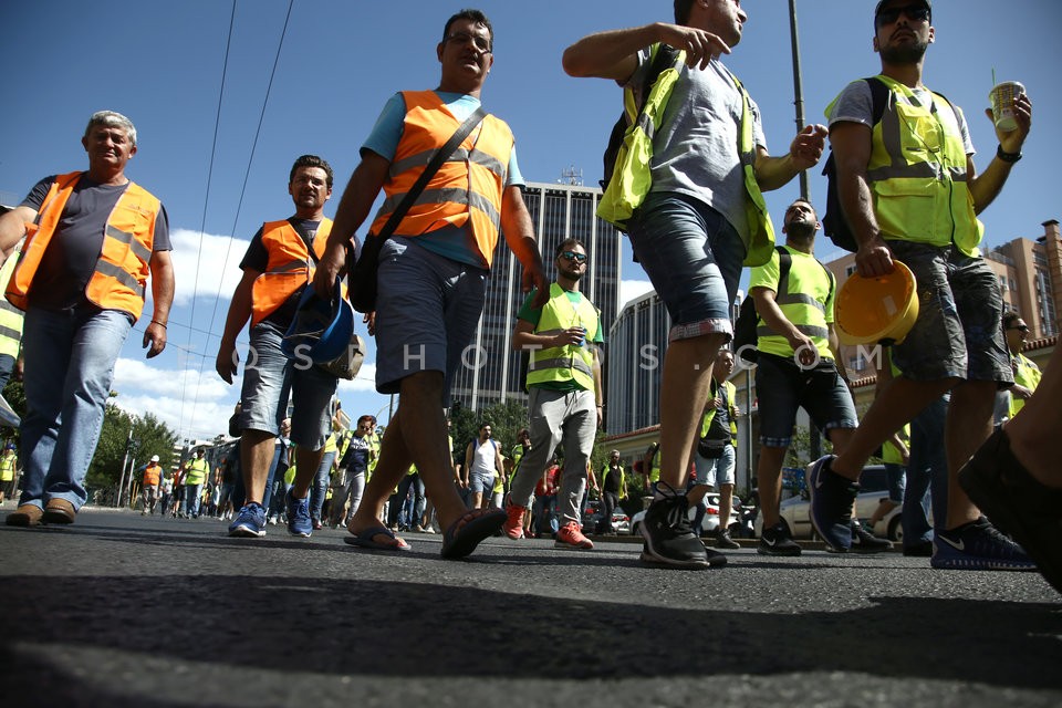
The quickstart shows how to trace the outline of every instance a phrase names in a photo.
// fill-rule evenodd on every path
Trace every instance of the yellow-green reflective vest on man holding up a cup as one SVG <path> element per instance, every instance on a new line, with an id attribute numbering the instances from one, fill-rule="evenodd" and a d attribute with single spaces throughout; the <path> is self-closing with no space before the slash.
<path id="1" fill-rule="evenodd" d="M 967 155 L 955 110 L 933 95 L 918 105 L 914 92 L 888 76 L 881 122 L 874 126 L 866 177 L 874 214 L 885 238 L 948 246 L 979 254 L 983 227 L 974 211 L 967 185 Z"/>

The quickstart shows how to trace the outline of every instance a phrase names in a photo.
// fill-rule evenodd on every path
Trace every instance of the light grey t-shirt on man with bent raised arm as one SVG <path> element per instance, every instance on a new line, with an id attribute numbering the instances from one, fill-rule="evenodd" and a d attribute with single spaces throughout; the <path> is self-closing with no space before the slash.
<path id="1" fill-rule="evenodd" d="M 627 81 L 641 103 L 649 71 L 649 50 L 638 53 L 638 69 Z M 767 149 L 760 111 L 750 100 L 752 139 Z M 694 197 L 719 211 L 742 238 L 749 236 L 741 168 L 741 92 L 718 60 L 708 67 L 683 66 L 653 140 L 652 191 Z"/>

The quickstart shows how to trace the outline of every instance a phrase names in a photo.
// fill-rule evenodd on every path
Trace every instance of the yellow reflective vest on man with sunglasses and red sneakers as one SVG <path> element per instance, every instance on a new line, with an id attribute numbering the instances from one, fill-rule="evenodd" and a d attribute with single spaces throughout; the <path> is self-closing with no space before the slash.
<path id="1" fill-rule="evenodd" d="M 552 335 L 576 325 L 586 330 L 584 345 L 565 344 L 533 351 L 528 368 L 528 386 L 572 381 L 584 391 L 594 389 L 594 356 L 590 347 L 601 326 L 597 310 L 583 296 L 576 308 L 568 299 L 564 289 L 552 283 L 550 299 L 542 306 L 542 316 L 534 333 Z"/>

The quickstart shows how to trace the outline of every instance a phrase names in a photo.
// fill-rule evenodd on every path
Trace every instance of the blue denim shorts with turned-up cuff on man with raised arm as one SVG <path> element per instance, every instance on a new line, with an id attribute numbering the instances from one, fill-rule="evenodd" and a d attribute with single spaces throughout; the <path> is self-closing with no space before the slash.
<path id="1" fill-rule="evenodd" d="M 733 334 L 745 242 L 726 217 L 675 192 L 650 192 L 629 221 L 631 246 L 671 317 L 668 341 Z"/>

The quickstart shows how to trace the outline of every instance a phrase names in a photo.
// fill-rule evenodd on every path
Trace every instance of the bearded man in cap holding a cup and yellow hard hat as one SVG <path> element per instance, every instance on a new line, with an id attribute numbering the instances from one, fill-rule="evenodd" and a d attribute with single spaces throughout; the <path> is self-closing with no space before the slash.
<path id="1" fill-rule="evenodd" d="M 922 83 L 935 39 L 928 0 L 882 0 L 874 11 L 879 81 L 888 88 L 881 121 L 867 81 L 850 84 L 826 110 L 839 196 L 855 235 L 864 278 L 904 262 L 918 282 L 918 319 L 893 350 L 899 376 L 886 384 L 836 457 L 810 468 L 811 521 L 831 545 L 851 543 L 848 516 L 872 451 L 923 408 L 951 392 L 945 433 L 947 519 L 936 519 L 931 565 L 964 570 L 1032 568 L 956 483 L 959 468 L 991 433 L 996 391 L 1013 383 L 996 275 L 980 258 L 977 214 L 1000 192 L 1029 135 L 1032 106 L 1017 98 L 1017 127 L 996 127 L 999 147 L 977 174 L 962 112 Z M 991 119 L 991 112 L 989 119 Z"/>

